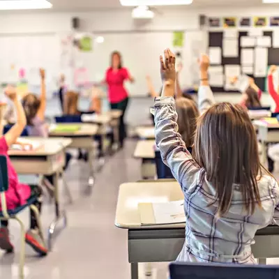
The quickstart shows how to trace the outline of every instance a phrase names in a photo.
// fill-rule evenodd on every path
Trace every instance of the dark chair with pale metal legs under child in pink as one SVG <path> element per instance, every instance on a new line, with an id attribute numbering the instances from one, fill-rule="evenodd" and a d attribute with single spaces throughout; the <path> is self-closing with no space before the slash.
<path id="1" fill-rule="evenodd" d="M 27 200 L 27 203 L 23 206 L 18 206 L 15 209 L 8 210 L 7 209 L 7 203 L 6 203 L 6 195 L 5 192 L 8 190 L 8 169 L 7 169 L 7 158 L 6 156 L 0 156 L 0 195 L 1 195 L 1 209 L 0 211 L 0 220 L 9 220 L 9 219 L 15 219 L 18 223 L 20 223 L 20 229 L 21 229 L 21 250 L 20 250 L 20 264 L 19 264 L 19 274 L 20 278 L 24 278 L 24 262 L 25 262 L 25 227 L 24 223 L 22 223 L 22 220 L 17 217 L 17 214 L 29 207 L 31 210 L 34 211 L 36 215 L 36 219 L 38 222 L 38 227 L 40 231 L 40 235 L 42 236 L 43 241 L 45 242 L 45 239 L 43 237 L 43 229 L 42 225 L 40 223 L 40 215 L 38 212 L 38 209 L 36 206 L 33 205 L 33 202 L 36 201 L 37 196 L 33 195 L 29 197 Z"/>

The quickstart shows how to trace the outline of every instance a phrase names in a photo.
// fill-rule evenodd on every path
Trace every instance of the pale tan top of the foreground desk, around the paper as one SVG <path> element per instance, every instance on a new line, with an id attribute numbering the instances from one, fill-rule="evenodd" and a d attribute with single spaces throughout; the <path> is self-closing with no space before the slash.
<path id="1" fill-rule="evenodd" d="M 172 202 L 181 199 L 184 199 L 183 193 L 176 181 L 124 183 L 119 187 L 115 225 L 123 229 L 183 228 L 185 224 L 142 226 L 137 210 L 140 202 Z"/>

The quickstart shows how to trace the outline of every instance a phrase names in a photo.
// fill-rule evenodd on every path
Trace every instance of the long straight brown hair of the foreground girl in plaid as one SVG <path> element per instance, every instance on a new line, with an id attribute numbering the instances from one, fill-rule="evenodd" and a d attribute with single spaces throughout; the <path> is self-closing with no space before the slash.
<path id="1" fill-rule="evenodd" d="M 193 158 L 204 167 L 206 179 L 216 188 L 218 217 L 229 210 L 234 184 L 241 186 L 248 213 L 262 206 L 257 186 L 257 176 L 262 177 L 257 137 L 246 110 L 240 105 L 219 103 L 199 117 Z"/>

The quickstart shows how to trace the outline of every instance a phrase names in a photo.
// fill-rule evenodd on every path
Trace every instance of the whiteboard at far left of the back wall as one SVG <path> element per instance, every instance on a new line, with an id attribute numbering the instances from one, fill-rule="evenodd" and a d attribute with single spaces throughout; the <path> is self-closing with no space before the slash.
<path id="1" fill-rule="evenodd" d="M 38 93 L 38 69 L 45 68 L 47 93 L 52 94 L 59 74 L 59 40 L 55 33 L 0 36 L 0 45 L 0 83 L 19 82 L 18 72 L 22 68 L 29 90 Z"/>

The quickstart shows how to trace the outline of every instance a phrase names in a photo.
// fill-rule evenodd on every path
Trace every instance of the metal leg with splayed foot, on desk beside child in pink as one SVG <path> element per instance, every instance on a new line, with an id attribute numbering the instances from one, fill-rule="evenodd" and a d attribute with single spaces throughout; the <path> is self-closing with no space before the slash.
<path id="1" fill-rule="evenodd" d="M 64 229 L 67 225 L 67 217 L 66 212 L 60 210 L 59 206 L 59 188 L 58 188 L 58 178 L 59 178 L 59 172 L 56 172 L 54 174 L 54 205 L 55 205 L 55 219 L 50 224 L 50 227 L 48 229 L 48 248 L 49 250 L 52 250 L 52 241 L 54 238 L 54 234 L 56 231 L 56 226 L 58 225 L 60 220 L 63 220 L 63 228 Z"/>

